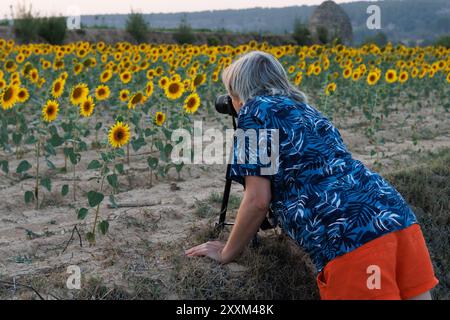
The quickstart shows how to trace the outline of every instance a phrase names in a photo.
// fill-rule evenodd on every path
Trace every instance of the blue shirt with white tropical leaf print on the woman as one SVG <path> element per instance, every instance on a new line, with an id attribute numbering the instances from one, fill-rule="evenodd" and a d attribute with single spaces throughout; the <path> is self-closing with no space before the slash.
<path id="1" fill-rule="evenodd" d="M 270 179 L 274 218 L 310 254 L 317 272 L 335 257 L 417 222 L 395 188 L 353 159 L 338 130 L 312 106 L 260 95 L 240 109 L 239 129 L 254 129 L 258 146 L 250 147 L 249 137 L 238 144 L 235 137 L 229 177 L 240 183 L 244 176 Z M 275 155 L 276 172 L 267 173 L 273 163 L 262 161 L 263 149 Z"/>

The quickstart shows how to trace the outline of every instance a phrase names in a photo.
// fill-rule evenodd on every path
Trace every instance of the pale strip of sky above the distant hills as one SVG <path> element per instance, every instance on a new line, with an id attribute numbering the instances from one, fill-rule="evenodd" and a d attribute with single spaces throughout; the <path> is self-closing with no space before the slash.
<path id="1" fill-rule="evenodd" d="M 337 3 L 355 0 L 335 0 Z M 132 9 L 141 13 L 194 12 L 220 9 L 243 9 L 254 7 L 286 7 L 316 5 L 322 0 L 0 0 L 0 19 L 10 16 L 10 6 L 15 10 L 18 3 L 32 5 L 40 16 L 67 15 L 76 7 L 81 14 L 129 13 Z M 70 9 L 69 9 L 70 8 Z"/>

